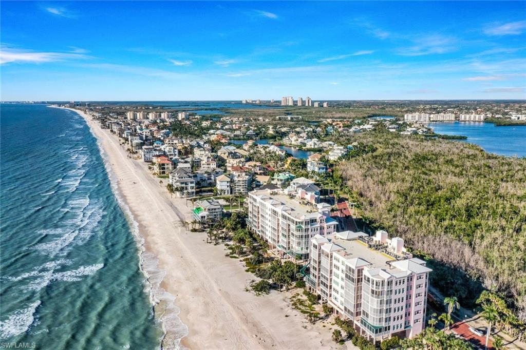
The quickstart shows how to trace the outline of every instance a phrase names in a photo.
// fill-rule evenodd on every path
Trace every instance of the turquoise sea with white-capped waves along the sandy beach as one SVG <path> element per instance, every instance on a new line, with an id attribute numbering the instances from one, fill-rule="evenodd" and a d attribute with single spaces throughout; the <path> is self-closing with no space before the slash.
<path id="1" fill-rule="evenodd" d="M 158 348 L 138 247 L 85 121 L 0 108 L 2 342 Z"/>

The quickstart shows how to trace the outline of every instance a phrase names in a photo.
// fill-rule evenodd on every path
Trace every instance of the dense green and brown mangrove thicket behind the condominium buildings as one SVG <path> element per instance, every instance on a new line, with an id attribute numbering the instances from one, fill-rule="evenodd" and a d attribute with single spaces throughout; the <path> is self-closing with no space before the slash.
<path id="1" fill-rule="evenodd" d="M 366 221 L 437 262 L 434 286 L 462 305 L 479 280 L 526 318 L 526 159 L 381 130 L 342 141 L 375 149 L 338 169 Z"/>

